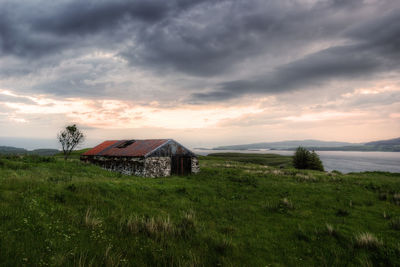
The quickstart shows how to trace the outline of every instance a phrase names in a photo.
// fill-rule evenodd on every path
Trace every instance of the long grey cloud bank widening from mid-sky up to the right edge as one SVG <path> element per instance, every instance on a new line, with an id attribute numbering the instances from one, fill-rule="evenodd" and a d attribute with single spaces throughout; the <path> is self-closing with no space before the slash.
<path id="1" fill-rule="evenodd" d="M 355 27 L 346 35 L 356 43 L 313 53 L 263 76 L 221 83 L 214 91 L 195 93 L 192 98 L 220 101 L 249 93 L 318 90 L 333 79 L 369 79 L 381 72 L 399 70 L 400 10 Z"/>

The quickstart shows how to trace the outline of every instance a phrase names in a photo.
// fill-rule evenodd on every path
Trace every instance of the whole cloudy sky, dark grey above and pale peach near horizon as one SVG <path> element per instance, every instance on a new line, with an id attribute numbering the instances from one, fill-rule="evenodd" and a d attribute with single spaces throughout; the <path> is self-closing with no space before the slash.
<path id="1" fill-rule="evenodd" d="M 398 0 L 0 0 L 2 140 L 388 139 L 399 74 Z"/>

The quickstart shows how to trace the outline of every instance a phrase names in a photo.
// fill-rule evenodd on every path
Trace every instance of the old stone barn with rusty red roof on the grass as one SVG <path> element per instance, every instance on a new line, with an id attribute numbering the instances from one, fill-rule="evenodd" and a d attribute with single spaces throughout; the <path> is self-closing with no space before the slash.
<path id="1" fill-rule="evenodd" d="M 172 139 L 104 141 L 80 159 L 110 171 L 144 177 L 199 172 L 196 155 Z"/>

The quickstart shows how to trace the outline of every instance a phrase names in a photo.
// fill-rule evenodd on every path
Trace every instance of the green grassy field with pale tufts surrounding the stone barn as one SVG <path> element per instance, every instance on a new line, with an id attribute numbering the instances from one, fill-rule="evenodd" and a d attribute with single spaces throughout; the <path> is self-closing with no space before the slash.
<path id="1" fill-rule="evenodd" d="M 220 154 L 146 179 L 78 155 L 0 158 L 1 266 L 400 265 L 400 174 Z"/>

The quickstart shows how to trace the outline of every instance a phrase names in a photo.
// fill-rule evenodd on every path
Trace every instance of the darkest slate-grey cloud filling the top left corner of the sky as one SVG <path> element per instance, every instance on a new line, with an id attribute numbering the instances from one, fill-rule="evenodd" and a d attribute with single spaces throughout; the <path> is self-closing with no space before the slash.
<path id="1" fill-rule="evenodd" d="M 111 46 L 142 28 L 202 1 L 116 0 L 0 2 L 0 55 L 39 57 L 79 49 Z M 138 23 L 141 22 L 141 23 Z M 129 26 L 129 32 L 120 28 Z M 103 34 L 97 39 L 94 34 Z M 119 36 L 122 34 L 123 36 Z"/>

